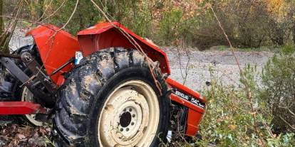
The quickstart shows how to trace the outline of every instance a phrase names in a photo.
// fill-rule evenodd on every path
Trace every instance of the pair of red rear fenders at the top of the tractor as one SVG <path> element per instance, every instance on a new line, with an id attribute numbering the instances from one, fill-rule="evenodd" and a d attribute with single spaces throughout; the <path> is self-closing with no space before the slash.
<path id="1" fill-rule="evenodd" d="M 46 72 L 50 75 L 58 67 L 61 67 L 68 60 L 75 57 L 76 51 L 82 51 L 83 55 L 87 56 L 105 48 L 134 48 L 134 45 L 130 43 L 120 30 L 132 36 L 149 58 L 160 62 L 162 72 L 170 75 L 166 54 L 157 46 L 148 43 L 148 41 L 140 38 L 140 36 L 137 36 L 117 22 L 98 23 L 95 26 L 80 31 L 78 38 L 71 36 L 66 31 L 59 31 L 59 28 L 53 25 L 38 26 L 26 33 L 26 36 L 33 36 Z M 52 75 L 51 79 L 53 82 L 61 85 L 63 82 L 61 75 L 69 72 L 72 67 L 72 65 L 68 65 L 55 75 Z"/>

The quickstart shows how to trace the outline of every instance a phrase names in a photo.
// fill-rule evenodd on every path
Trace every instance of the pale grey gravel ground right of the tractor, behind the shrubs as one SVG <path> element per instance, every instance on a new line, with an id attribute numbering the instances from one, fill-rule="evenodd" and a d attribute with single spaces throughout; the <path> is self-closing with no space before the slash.
<path id="1" fill-rule="evenodd" d="M 238 87 L 239 67 L 231 51 L 207 50 L 197 51 L 188 49 L 188 56 L 184 51 L 177 52 L 175 48 L 163 48 L 167 53 L 170 62 L 171 78 L 183 83 L 185 77 L 185 67 L 187 66 L 187 79 L 185 85 L 196 91 L 201 91 L 206 87 L 206 82 L 210 82 L 211 76 L 209 68 L 214 70 L 214 77 L 221 80 L 224 85 L 234 85 Z M 257 65 L 257 71 L 262 70 L 263 65 L 274 53 L 270 52 L 235 52 L 241 68 L 246 65 Z M 187 65 L 188 57 L 190 62 Z M 182 70 L 180 70 L 182 69 Z M 183 76 L 182 76 L 183 75 Z"/>

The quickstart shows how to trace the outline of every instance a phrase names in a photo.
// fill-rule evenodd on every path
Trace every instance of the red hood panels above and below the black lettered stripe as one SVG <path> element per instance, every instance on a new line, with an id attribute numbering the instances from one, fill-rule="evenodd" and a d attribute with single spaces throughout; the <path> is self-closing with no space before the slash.
<path id="1" fill-rule="evenodd" d="M 166 82 L 170 87 L 179 89 L 182 92 L 185 92 L 185 94 L 189 94 L 192 97 L 197 98 L 201 102 L 206 102 L 206 99 L 204 97 L 201 97 L 199 93 L 192 91 L 192 89 L 189 89 L 184 85 L 181 85 L 175 80 L 167 78 Z M 202 119 L 202 115 L 205 113 L 205 109 L 197 107 L 195 104 L 192 104 L 186 99 L 182 99 L 175 94 L 171 94 L 170 99 L 189 108 L 187 114 L 187 131 L 185 132 L 185 135 L 195 136 L 197 134 L 197 131 L 199 130 L 199 124 Z"/>

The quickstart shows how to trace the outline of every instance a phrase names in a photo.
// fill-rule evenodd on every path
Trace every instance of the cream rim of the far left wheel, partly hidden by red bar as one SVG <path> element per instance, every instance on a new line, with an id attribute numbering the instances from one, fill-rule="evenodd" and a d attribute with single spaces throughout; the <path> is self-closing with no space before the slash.
<path id="1" fill-rule="evenodd" d="M 21 93 L 21 102 L 34 102 L 33 93 L 27 87 L 24 87 L 23 92 Z M 35 126 L 43 126 L 43 122 L 36 120 L 36 114 L 25 114 L 24 116 L 31 122 L 31 124 Z"/>

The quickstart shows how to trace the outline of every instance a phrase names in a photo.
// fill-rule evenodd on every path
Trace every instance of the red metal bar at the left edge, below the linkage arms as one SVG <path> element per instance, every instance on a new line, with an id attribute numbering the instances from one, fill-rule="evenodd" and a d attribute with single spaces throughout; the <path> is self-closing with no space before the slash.
<path id="1" fill-rule="evenodd" d="M 46 109 L 31 102 L 0 102 L 0 115 L 13 114 L 46 114 Z"/>

